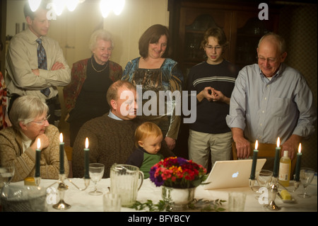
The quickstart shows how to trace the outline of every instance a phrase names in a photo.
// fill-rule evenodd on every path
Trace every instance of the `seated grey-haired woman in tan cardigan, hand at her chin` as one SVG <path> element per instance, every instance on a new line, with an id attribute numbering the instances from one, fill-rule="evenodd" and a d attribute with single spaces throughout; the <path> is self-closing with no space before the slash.
<path id="1" fill-rule="evenodd" d="M 0 164 L 15 167 L 12 181 L 35 176 L 37 138 L 41 142 L 41 178 L 59 178 L 59 130 L 47 122 L 48 110 L 47 105 L 35 96 L 20 96 L 14 101 L 9 115 L 12 127 L 0 131 Z M 64 171 L 68 176 L 65 152 Z"/>

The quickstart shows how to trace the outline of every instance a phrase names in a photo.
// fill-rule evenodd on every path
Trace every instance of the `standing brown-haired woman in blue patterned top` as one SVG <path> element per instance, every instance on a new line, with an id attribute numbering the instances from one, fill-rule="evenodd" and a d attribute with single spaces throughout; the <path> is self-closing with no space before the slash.
<path id="1" fill-rule="evenodd" d="M 181 96 L 183 76 L 177 62 L 167 58 L 169 55 L 169 30 L 160 24 L 148 28 L 139 39 L 139 54 L 141 57 L 126 64 L 122 79 L 135 84 L 137 91 L 139 90 L 138 85 L 141 85 L 143 105 L 142 108 L 139 106 L 137 115 L 140 115 L 145 121 L 157 124 L 163 131 L 165 142 L 172 150 L 175 148 L 181 121 L 181 113 L 176 113 L 176 108 L 181 107 L 181 103 L 175 98 L 164 99 L 165 111 L 163 113 L 159 111 L 159 94 L 179 93 Z M 151 91 L 155 96 L 149 96 L 150 92 L 146 91 Z M 151 103 L 155 103 L 155 106 Z"/>

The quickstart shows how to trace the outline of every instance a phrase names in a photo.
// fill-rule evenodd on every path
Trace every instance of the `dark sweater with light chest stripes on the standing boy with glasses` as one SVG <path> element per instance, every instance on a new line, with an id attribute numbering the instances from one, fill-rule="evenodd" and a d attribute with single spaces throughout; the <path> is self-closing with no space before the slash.
<path id="1" fill-rule="evenodd" d="M 188 77 L 188 91 L 199 94 L 205 87 L 211 86 L 229 97 L 235 85 L 238 69 L 234 64 L 223 60 L 220 64 L 201 62 L 192 67 Z M 220 101 L 208 101 L 204 98 L 196 103 L 196 121 L 189 124 L 191 130 L 205 133 L 230 132 L 225 117 L 230 105 Z"/>

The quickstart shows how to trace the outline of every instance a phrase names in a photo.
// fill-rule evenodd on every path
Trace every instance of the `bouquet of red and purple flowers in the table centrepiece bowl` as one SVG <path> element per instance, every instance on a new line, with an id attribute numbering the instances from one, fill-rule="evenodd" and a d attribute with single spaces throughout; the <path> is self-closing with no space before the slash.
<path id="1" fill-rule="evenodd" d="M 168 157 L 151 167 L 150 179 L 155 186 L 195 188 L 206 180 L 206 169 L 181 157 Z"/>

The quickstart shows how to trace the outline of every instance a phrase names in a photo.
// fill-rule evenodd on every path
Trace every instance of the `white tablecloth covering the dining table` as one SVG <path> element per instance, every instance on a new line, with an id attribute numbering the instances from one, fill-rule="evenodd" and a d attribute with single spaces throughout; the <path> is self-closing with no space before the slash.
<path id="1" fill-rule="evenodd" d="M 71 179 L 73 183 L 80 188 L 84 187 L 83 179 Z M 69 181 L 64 181 L 68 186 L 68 190 L 65 193 L 65 202 L 71 205 L 69 210 L 56 210 L 52 207 L 52 203 L 47 205 L 48 211 L 59 211 L 59 212 L 101 212 L 102 208 L 102 196 L 90 196 L 88 194 L 89 191 L 93 190 L 93 182 L 90 181 L 90 186 L 86 189 L 86 191 L 79 191 L 73 184 L 69 183 Z M 54 180 L 45 180 L 42 179 L 40 186 L 49 187 L 54 183 Z M 13 183 L 17 185 L 23 185 L 23 181 Z M 109 191 L 108 187 L 110 186 L 110 179 L 102 179 L 98 182 L 98 189 L 107 193 Z M 49 188 L 48 196 L 52 198 L 49 200 L 54 202 L 54 200 L 59 201 L 59 196 L 52 191 L 57 191 L 57 183 Z M 161 197 L 161 187 L 156 187 L 154 183 L 150 181 L 150 179 L 146 179 L 143 181 L 143 186 L 138 192 L 137 200 L 140 202 L 146 202 L 147 200 L 153 200 L 153 203 L 158 203 L 159 200 L 162 200 Z M 290 181 L 290 186 L 288 187 L 289 191 L 293 190 L 293 181 Z M 203 186 L 199 186 L 196 188 L 195 198 L 203 198 L 206 200 L 226 200 L 223 203 L 223 208 L 225 211 L 228 210 L 228 193 L 231 191 L 237 191 L 247 194 L 246 203 L 245 203 L 245 212 L 270 212 L 270 210 L 266 210 L 263 205 L 259 204 L 259 201 L 255 198 L 257 193 L 254 193 L 249 187 L 242 188 L 226 188 L 226 189 L 216 189 L 216 190 L 204 190 Z M 314 180 L 308 186 L 307 192 L 312 196 L 312 198 L 300 198 L 298 197 L 299 193 L 302 193 L 302 186 L 298 188 L 295 193 L 291 193 L 293 198 L 295 199 L 294 203 L 283 203 L 283 201 L 276 196 L 275 203 L 278 205 L 281 210 L 278 212 L 317 212 L 317 176 L 314 176 Z M 134 212 L 136 210 L 131 208 L 122 208 L 122 212 Z M 274 211 L 275 212 L 275 211 Z"/>

